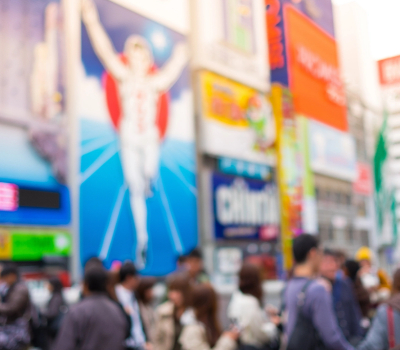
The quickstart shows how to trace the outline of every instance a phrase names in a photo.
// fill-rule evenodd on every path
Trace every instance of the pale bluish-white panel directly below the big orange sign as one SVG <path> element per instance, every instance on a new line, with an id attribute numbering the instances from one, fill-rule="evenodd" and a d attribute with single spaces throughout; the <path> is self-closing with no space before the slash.
<path id="1" fill-rule="evenodd" d="M 357 157 L 354 138 L 316 121 L 310 121 L 309 128 L 312 170 L 322 175 L 355 181 Z"/>

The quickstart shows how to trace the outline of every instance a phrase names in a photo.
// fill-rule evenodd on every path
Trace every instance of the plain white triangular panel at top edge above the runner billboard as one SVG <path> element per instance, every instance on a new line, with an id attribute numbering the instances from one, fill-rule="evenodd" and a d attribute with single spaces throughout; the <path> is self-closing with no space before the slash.
<path id="1" fill-rule="evenodd" d="M 111 0 L 177 32 L 190 31 L 188 0 Z"/>

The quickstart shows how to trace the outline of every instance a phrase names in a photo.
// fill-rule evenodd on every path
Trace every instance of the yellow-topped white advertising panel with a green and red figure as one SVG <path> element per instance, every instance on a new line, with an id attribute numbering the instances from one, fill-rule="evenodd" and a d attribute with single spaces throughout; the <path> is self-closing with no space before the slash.
<path id="1" fill-rule="evenodd" d="M 200 72 L 201 147 L 206 153 L 273 162 L 275 119 L 267 97 L 211 72 Z"/>

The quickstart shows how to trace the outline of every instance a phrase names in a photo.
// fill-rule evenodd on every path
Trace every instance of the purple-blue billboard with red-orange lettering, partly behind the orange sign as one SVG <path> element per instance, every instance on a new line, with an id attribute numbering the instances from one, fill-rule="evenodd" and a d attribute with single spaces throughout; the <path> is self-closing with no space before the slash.
<path id="1" fill-rule="evenodd" d="M 293 6 L 319 28 L 334 36 L 333 8 L 331 0 L 264 0 L 268 25 L 268 45 L 271 65 L 271 81 L 288 86 L 288 57 L 285 37 L 284 8 Z"/>

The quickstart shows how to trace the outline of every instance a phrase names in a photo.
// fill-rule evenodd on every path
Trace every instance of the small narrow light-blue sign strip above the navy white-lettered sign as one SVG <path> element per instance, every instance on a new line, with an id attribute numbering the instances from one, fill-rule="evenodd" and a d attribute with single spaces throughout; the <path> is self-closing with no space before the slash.
<path id="1" fill-rule="evenodd" d="M 224 157 L 218 159 L 218 167 L 225 174 L 245 176 L 265 181 L 272 179 L 272 168 L 268 165 Z"/>

